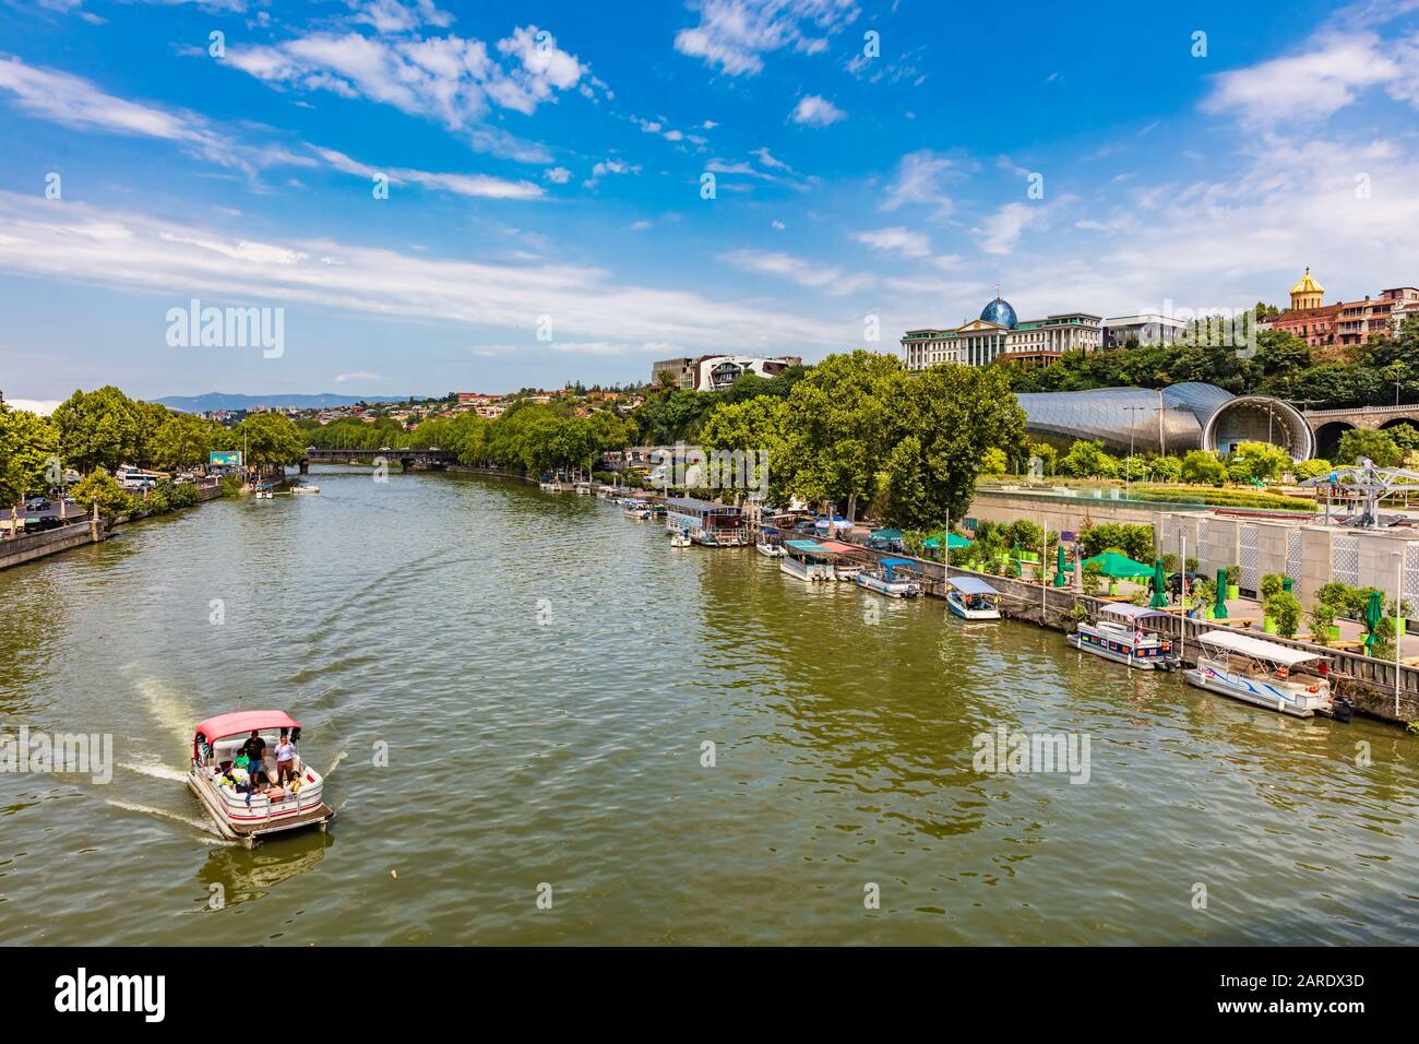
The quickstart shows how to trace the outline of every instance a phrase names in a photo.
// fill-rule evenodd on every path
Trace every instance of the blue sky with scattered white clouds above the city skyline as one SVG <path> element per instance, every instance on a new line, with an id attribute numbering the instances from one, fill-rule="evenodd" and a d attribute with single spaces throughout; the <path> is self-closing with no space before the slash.
<path id="1" fill-rule="evenodd" d="M 1416 6 L 0 0 L 0 388 L 508 391 L 895 351 L 998 281 L 1413 284 Z M 194 297 L 284 352 L 169 347 Z"/>

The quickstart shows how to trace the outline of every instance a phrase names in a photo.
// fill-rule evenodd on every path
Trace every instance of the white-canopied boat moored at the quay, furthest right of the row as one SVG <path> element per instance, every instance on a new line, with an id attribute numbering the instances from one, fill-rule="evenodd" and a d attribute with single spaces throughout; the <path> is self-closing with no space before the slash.
<path id="1" fill-rule="evenodd" d="M 1324 656 L 1220 628 L 1198 641 L 1198 666 L 1183 672 L 1189 685 L 1293 717 L 1348 722 L 1355 710 L 1352 700 L 1332 695 Z"/>

